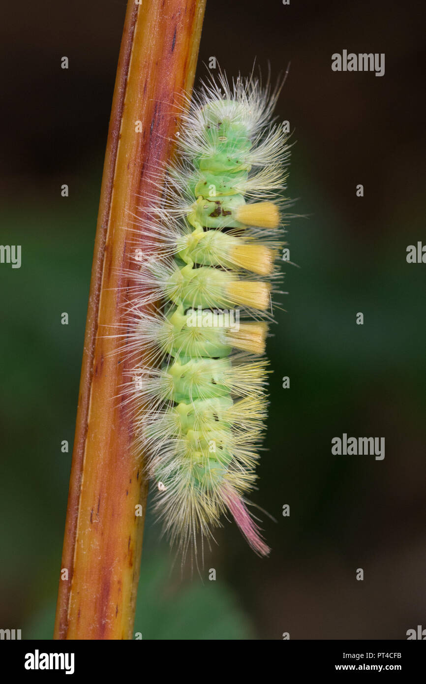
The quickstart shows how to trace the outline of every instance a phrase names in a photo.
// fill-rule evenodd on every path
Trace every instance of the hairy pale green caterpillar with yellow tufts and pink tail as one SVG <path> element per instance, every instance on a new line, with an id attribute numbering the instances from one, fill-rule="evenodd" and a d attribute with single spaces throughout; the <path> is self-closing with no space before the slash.
<path id="1" fill-rule="evenodd" d="M 135 229 L 125 349 L 143 358 L 129 378 L 137 452 L 184 553 L 199 535 L 213 538 L 223 514 L 258 555 L 270 551 L 246 495 L 267 417 L 265 340 L 284 244 L 279 92 L 253 75 L 202 81 L 182 107 L 161 202 Z"/>

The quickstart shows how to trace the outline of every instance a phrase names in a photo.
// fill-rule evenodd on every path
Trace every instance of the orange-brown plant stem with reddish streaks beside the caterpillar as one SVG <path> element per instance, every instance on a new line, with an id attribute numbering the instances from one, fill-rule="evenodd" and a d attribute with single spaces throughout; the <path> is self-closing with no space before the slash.
<path id="1" fill-rule="evenodd" d="M 190 92 L 205 0 L 129 0 L 109 123 L 55 639 L 131 639 L 148 484 L 116 398 L 129 362 L 105 330 L 122 326 L 133 217 L 173 154 L 176 94 Z M 140 132 L 135 122 L 140 121 Z M 158 182 L 158 177 L 156 177 Z M 142 199 L 141 199 L 142 198 Z M 119 360 L 121 363 L 119 363 Z M 136 516 L 138 504 L 142 516 Z"/>

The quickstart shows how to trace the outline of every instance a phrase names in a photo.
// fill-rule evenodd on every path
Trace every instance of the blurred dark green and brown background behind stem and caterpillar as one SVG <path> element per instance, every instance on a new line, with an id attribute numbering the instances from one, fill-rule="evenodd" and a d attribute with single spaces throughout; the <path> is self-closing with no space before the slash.
<path id="1" fill-rule="evenodd" d="M 299 268 L 287 265 L 287 311 L 268 348 L 254 494 L 278 522 L 264 516 L 268 560 L 226 523 L 202 584 L 170 574 L 173 555 L 148 516 L 144 638 L 405 639 L 426 627 L 426 265 L 405 260 L 408 245 L 426 243 L 422 9 L 207 0 L 199 75 L 212 55 L 228 75 L 249 73 L 256 57 L 275 78 L 291 61 L 278 114 L 294 130 L 288 194 L 307 218 L 289 228 Z M 0 265 L 0 627 L 23 638 L 53 631 L 71 458 L 60 443 L 74 435 L 124 11 L 124 0 L 2 10 L 1 244 L 21 244 L 23 261 Z M 385 53 L 384 77 L 332 72 L 343 49 Z M 384 436 L 384 460 L 332 456 L 343 432 Z"/>

